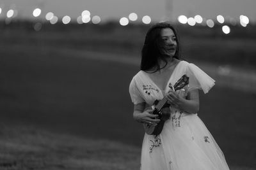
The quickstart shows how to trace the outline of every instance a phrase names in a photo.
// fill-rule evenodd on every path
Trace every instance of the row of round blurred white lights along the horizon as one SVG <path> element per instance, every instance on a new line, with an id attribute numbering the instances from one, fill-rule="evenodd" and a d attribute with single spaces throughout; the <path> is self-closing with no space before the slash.
<path id="1" fill-rule="evenodd" d="M 2 15 L 3 9 L 0 8 L 0 15 Z M 42 10 L 40 8 L 35 8 L 32 12 L 33 17 L 38 18 L 40 15 L 42 15 Z M 18 11 L 14 9 L 10 9 L 6 13 L 6 19 L 12 20 L 12 18 L 15 18 L 18 16 Z M 41 16 L 42 17 L 42 16 Z M 60 18 L 54 15 L 53 12 L 48 12 L 46 13 L 45 17 L 46 21 L 50 22 L 51 24 L 56 24 L 61 20 L 61 22 L 65 25 L 69 24 L 71 22 L 71 18 L 68 15 L 65 15 L 64 17 Z M 101 18 L 98 15 L 94 15 L 93 17 L 91 16 L 90 11 L 84 10 L 81 12 L 81 15 L 79 15 L 76 19 L 77 24 L 86 24 L 89 22 L 92 22 L 93 24 L 100 24 Z M 129 22 L 138 22 L 138 15 L 134 12 L 130 13 L 128 17 L 121 17 L 119 20 L 120 25 L 125 26 L 128 25 Z M 225 34 L 230 33 L 230 25 L 237 25 L 237 20 L 232 17 L 223 17 L 222 15 L 218 15 L 215 20 L 213 19 L 206 19 L 203 18 L 201 15 L 195 15 L 195 17 L 186 17 L 185 15 L 180 15 L 177 17 L 177 21 L 180 24 L 188 24 L 190 26 L 195 26 L 196 24 L 204 25 L 207 27 L 214 27 L 215 24 L 223 24 L 222 31 Z M 215 21 L 215 22 L 214 22 Z M 141 17 L 141 22 L 143 24 L 150 24 L 152 22 L 151 17 L 148 15 L 145 15 Z M 246 15 L 240 15 L 239 17 L 239 24 L 242 25 L 243 27 L 246 27 L 250 23 L 249 18 Z M 40 30 L 42 27 L 42 23 L 39 23 L 35 25 L 35 27 Z M 36 30 L 37 30 L 36 29 Z"/>

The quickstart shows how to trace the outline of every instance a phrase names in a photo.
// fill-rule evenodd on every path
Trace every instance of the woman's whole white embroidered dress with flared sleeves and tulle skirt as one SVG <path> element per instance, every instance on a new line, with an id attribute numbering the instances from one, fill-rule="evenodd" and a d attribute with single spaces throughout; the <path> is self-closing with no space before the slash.
<path id="1" fill-rule="evenodd" d="M 184 60 L 180 61 L 169 83 L 175 84 L 183 75 L 189 76 L 189 85 L 179 90 L 185 97 L 189 90 L 202 89 L 207 93 L 214 80 L 204 71 Z M 161 90 L 148 73 L 139 71 L 131 81 L 129 92 L 132 103 L 146 102 L 150 106 L 156 99 L 163 99 L 168 92 Z M 225 170 L 229 169 L 221 149 L 197 114 L 171 108 L 171 117 L 164 123 L 158 136 L 145 133 L 141 149 L 141 170 Z"/>

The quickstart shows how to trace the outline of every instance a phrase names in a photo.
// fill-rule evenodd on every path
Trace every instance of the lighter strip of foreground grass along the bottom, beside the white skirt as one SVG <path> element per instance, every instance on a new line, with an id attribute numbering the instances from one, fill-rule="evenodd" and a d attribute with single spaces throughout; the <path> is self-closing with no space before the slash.
<path id="1" fill-rule="evenodd" d="M 29 125 L 0 124 L 0 169 L 134 170 L 140 148 L 106 139 L 56 134 Z M 230 170 L 253 170 L 230 166 Z"/>

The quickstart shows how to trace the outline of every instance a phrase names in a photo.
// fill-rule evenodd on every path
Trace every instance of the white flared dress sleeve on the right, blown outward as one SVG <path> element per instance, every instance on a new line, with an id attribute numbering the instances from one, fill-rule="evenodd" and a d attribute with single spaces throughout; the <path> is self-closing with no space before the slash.
<path id="1" fill-rule="evenodd" d="M 188 65 L 189 87 L 188 91 L 193 89 L 203 90 L 206 94 L 215 85 L 213 80 L 202 69 L 195 64 L 189 63 Z"/>

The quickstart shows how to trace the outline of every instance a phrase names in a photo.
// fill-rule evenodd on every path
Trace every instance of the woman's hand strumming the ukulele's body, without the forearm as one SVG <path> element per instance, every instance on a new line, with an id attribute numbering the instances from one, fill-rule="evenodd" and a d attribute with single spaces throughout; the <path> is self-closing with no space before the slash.
<path id="1" fill-rule="evenodd" d="M 143 111 L 143 113 L 139 113 L 134 117 L 134 119 L 143 124 L 157 125 L 160 122 L 158 119 L 158 115 L 153 115 L 153 110 L 151 108 L 147 108 Z"/>

